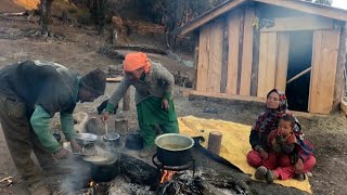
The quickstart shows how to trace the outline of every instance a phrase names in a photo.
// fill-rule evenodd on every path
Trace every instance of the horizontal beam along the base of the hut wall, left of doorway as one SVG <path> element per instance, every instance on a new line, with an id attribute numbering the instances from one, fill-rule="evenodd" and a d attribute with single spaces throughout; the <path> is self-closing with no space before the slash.
<path id="1" fill-rule="evenodd" d="M 227 93 L 208 93 L 208 92 L 200 92 L 200 91 L 191 91 L 190 95 L 209 96 L 209 98 L 237 100 L 237 101 L 246 101 L 246 102 L 259 102 L 259 103 L 265 103 L 266 101 L 265 98 L 258 98 L 258 96 L 230 95 Z"/>

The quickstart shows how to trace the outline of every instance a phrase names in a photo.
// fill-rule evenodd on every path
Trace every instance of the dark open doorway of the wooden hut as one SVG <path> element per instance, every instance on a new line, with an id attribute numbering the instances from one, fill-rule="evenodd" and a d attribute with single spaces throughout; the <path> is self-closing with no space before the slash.
<path id="1" fill-rule="evenodd" d="M 290 32 L 287 80 L 311 67 L 313 31 Z M 286 84 L 290 109 L 308 112 L 311 72 Z"/>

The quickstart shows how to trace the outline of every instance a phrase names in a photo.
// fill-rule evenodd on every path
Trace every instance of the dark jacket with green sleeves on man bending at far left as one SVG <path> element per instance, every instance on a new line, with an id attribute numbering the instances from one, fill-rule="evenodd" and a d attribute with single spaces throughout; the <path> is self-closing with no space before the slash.
<path id="1" fill-rule="evenodd" d="M 56 153 L 61 145 L 49 128 L 49 119 L 59 112 L 66 140 L 74 136 L 79 78 L 56 63 L 26 61 L 0 70 L 0 94 L 26 103 L 28 120 L 41 144 Z"/>

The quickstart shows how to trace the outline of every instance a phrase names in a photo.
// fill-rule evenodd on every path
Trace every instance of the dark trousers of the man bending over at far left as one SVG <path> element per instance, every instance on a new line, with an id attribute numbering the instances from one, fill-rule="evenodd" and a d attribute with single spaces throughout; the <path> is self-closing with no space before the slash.
<path id="1" fill-rule="evenodd" d="M 40 181 L 40 169 L 30 158 L 34 151 L 40 165 L 54 164 L 29 123 L 27 105 L 17 98 L 0 94 L 0 122 L 13 162 L 22 178 L 33 184 Z"/>

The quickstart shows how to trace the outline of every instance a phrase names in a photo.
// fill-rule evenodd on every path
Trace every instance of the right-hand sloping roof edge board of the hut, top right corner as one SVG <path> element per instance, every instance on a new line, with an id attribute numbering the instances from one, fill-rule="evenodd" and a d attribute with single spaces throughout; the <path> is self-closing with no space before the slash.
<path id="1" fill-rule="evenodd" d="M 254 1 L 283 6 L 287 9 L 293 9 L 293 10 L 297 10 L 297 11 L 301 11 L 301 12 L 306 12 L 314 15 L 335 18 L 338 21 L 345 21 L 345 22 L 347 21 L 346 10 L 321 5 L 318 3 L 309 3 L 305 1 L 294 1 L 294 0 L 254 0 Z"/>

